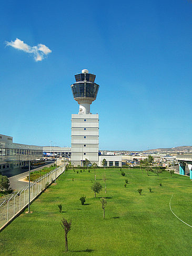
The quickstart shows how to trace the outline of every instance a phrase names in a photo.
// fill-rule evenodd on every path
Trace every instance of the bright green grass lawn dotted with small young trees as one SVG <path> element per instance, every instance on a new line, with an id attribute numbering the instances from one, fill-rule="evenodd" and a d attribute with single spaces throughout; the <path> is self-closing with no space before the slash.
<path id="1" fill-rule="evenodd" d="M 31 205 L 32 214 L 21 214 L 0 233 L 0 255 L 63 255 L 64 232 L 60 220 L 72 220 L 68 233 L 67 255 L 191 255 L 192 183 L 186 176 L 170 177 L 164 172 L 159 179 L 154 173 L 138 169 L 106 169 L 107 194 L 103 181 L 104 169 L 96 170 L 103 190 L 94 198 L 90 190 L 94 171 L 77 174 L 68 170 L 57 185 L 51 185 Z M 74 178 L 74 182 L 72 181 Z M 124 187 L 125 179 L 129 184 Z M 162 183 L 162 186 L 159 186 Z M 152 188 L 152 193 L 148 187 Z M 139 195 L 137 190 L 143 189 Z M 86 195 L 86 205 L 79 198 Z M 99 197 L 106 196 L 106 219 L 103 219 Z M 59 213 L 58 204 L 63 204 Z"/>

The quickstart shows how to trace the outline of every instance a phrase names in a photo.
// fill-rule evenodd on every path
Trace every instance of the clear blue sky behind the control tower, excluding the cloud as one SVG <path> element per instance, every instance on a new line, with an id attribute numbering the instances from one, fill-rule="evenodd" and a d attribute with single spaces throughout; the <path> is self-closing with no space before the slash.
<path id="1" fill-rule="evenodd" d="M 14 142 L 70 146 L 70 84 L 87 68 L 99 149 L 192 145 L 191 1 L 2 1 L 0 32 L 0 133 Z M 52 52 L 35 61 L 6 46 L 16 38 Z"/>

